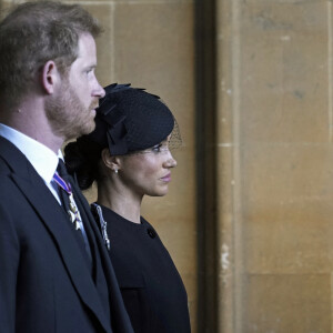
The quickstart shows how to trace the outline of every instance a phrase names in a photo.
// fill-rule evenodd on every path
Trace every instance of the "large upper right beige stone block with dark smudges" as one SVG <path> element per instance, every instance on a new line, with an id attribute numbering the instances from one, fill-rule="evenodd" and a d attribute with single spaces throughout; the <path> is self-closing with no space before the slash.
<path id="1" fill-rule="evenodd" d="M 326 3 L 259 2 L 242 9 L 243 140 L 326 141 Z"/>

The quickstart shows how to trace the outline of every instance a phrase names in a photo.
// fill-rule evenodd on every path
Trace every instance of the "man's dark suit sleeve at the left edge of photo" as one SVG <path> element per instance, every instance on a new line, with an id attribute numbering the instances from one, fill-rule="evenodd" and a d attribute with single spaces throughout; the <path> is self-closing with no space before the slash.
<path id="1" fill-rule="evenodd" d="M 13 333 L 20 246 L 9 209 L 0 195 L 0 332 Z"/>

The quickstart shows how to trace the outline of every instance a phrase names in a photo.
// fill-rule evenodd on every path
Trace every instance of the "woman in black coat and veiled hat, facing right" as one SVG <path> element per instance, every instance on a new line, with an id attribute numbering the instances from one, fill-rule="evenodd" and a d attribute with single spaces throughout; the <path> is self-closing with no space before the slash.
<path id="1" fill-rule="evenodd" d="M 82 190 L 98 185 L 92 211 L 101 225 L 135 332 L 189 333 L 182 280 L 152 225 L 141 216 L 143 195 L 165 195 L 175 120 L 159 97 L 111 84 L 97 109 L 95 130 L 64 149 Z"/>

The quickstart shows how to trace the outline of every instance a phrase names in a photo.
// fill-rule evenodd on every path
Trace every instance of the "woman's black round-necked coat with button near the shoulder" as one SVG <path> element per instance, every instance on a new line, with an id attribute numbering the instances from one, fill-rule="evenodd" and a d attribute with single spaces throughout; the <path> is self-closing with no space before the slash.
<path id="1" fill-rule="evenodd" d="M 102 206 L 110 256 L 135 333 L 189 333 L 188 295 L 158 233 Z"/>

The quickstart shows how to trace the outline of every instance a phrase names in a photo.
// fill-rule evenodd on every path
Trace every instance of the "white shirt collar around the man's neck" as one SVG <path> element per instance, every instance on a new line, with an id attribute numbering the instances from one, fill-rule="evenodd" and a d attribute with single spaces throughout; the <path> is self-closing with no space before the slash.
<path id="1" fill-rule="evenodd" d="M 0 135 L 13 143 L 26 155 L 46 182 L 52 181 L 58 159 L 63 159 L 60 150 L 57 155 L 44 144 L 2 123 L 0 123 Z"/>

